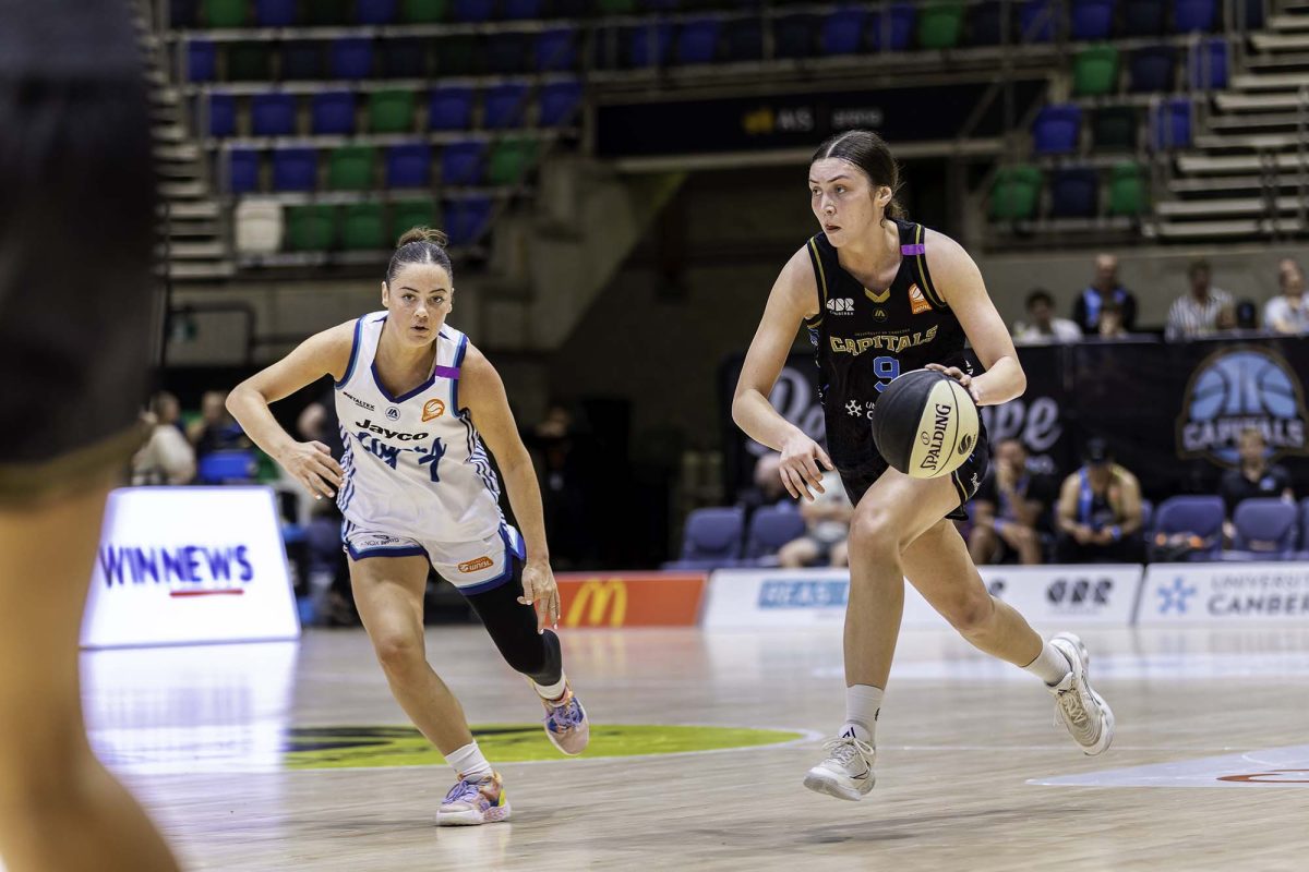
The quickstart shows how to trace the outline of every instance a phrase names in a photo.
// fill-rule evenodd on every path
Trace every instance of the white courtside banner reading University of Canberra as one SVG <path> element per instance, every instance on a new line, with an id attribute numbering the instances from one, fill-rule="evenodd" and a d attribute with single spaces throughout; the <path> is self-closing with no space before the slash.
<path id="1" fill-rule="evenodd" d="M 1143 625 L 1309 624 L 1309 562 L 1152 563 L 1136 607 Z"/>

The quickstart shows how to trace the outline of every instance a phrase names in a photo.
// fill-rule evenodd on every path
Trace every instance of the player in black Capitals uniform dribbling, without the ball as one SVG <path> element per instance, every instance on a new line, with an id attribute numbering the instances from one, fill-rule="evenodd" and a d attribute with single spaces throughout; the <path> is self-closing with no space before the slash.
<path id="1" fill-rule="evenodd" d="M 822 490 L 822 467 L 840 472 L 855 503 L 846 611 L 846 723 L 805 786 L 859 800 L 873 787 L 874 733 L 895 652 L 905 578 L 969 642 L 1039 676 L 1073 739 L 1098 754 L 1113 739 L 1109 706 L 1086 679 L 1086 651 L 1071 634 L 1045 642 L 1012 607 L 987 594 L 949 518 L 986 472 L 979 434 L 952 476 L 911 478 L 873 446 L 869 413 L 902 373 L 929 367 L 958 379 L 978 405 L 1020 396 L 1026 377 L 977 264 L 957 242 L 901 218 L 899 171 L 886 143 L 868 131 L 834 136 L 809 167 L 810 205 L 822 231 L 781 269 L 746 356 L 732 417 L 781 452 L 793 497 Z M 827 451 L 783 418 L 768 395 L 804 324 L 817 350 Z M 971 343 L 986 367 L 973 374 Z"/>

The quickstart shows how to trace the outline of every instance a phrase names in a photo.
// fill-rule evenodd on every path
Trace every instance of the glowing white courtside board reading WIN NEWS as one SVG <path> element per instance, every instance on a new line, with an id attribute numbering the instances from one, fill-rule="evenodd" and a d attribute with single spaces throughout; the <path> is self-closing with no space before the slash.
<path id="1" fill-rule="evenodd" d="M 271 489 L 122 488 L 109 495 L 84 647 L 298 635 Z"/>

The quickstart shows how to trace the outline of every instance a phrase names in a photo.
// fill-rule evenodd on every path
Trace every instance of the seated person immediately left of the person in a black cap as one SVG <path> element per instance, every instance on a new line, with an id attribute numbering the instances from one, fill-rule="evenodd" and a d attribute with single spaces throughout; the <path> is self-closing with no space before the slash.
<path id="1" fill-rule="evenodd" d="M 1054 482 L 1028 469 L 1028 448 L 1005 439 L 995 448 L 995 463 L 974 497 L 969 553 L 978 566 L 1042 562 L 1042 519 L 1054 499 Z"/>

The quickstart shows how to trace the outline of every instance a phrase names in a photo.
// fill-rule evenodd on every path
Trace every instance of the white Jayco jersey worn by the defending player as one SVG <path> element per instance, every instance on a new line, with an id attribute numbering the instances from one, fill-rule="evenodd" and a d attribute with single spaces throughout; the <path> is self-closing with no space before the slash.
<path id="1" fill-rule="evenodd" d="M 369 529 L 442 543 L 495 535 L 504 523 L 500 482 L 469 413 L 459 412 L 459 367 L 469 337 L 450 326 L 436 340 L 436 361 L 421 386 L 393 396 L 374 357 L 386 312 L 364 315 L 336 416 L 346 480 L 336 505 Z"/>

